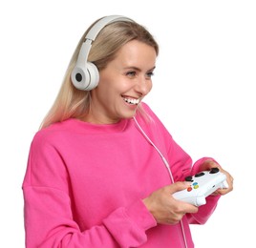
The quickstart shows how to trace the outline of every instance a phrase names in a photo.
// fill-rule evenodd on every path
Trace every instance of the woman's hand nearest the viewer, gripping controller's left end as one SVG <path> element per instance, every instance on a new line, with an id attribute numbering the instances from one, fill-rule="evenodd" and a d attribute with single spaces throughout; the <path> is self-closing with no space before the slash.
<path id="1" fill-rule="evenodd" d="M 149 212 L 160 224 L 176 224 L 186 213 L 197 213 L 198 207 L 175 199 L 175 192 L 186 189 L 188 182 L 175 182 L 143 199 Z"/>

